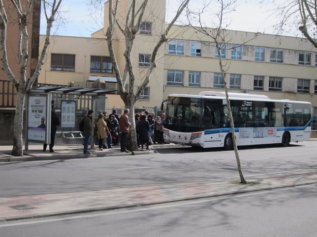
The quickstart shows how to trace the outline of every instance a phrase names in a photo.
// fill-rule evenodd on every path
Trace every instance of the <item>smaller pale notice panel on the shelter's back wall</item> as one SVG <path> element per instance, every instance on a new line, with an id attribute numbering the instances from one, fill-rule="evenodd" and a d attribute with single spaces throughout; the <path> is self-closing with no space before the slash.
<path id="1" fill-rule="evenodd" d="M 76 101 L 61 102 L 61 129 L 73 129 L 76 122 Z"/>

